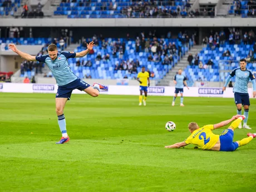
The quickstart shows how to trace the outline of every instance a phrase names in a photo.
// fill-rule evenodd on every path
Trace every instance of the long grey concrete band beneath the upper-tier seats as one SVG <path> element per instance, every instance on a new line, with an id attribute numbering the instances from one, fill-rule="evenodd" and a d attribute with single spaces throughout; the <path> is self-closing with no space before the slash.
<path id="1" fill-rule="evenodd" d="M 2 18 L 0 27 L 255 27 L 255 18 Z"/>

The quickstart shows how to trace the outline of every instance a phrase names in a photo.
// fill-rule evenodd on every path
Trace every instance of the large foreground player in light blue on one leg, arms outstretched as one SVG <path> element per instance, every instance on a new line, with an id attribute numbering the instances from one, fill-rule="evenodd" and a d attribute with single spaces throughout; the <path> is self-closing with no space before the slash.
<path id="1" fill-rule="evenodd" d="M 100 94 L 100 89 L 107 91 L 107 86 L 101 85 L 100 83 L 93 83 L 91 87 L 88 83 L 84 82 L 78 78 L 71 70 L 68 65 L 68 58 L 74 57 L 84 57 L 86 56 L 93 48 L 94 42 L 87 44 L 87 50 L 81 52 L 67 52 L 62 51 L 58 52 L 57 46 L 51 44 L 48 46 L 48 54 L 42 56 L 31 56 L 27 53 L 19 51 L 14 44 L 10 44 L 9 48 L 16 52 L 19 56 L 23 57 L 28 61 L 39 61 L 45 62 L 46 65 L 52 71 L 52 75 L 55 77 L 58 90 L 56 93 L 56 113 L 58 116 L 58 125 L 62 132 L 62 137 L 59 142 L 56 144 L 64 144 L 70 140 L 70 137 L 67 135 L 66 130 L 66 119 L 63 114 L 64 107 L 67 100 L 70 100 L 72 91 L 78 89 L 80 91 L 85 91 L 92 97 L 97 97 Z"/>

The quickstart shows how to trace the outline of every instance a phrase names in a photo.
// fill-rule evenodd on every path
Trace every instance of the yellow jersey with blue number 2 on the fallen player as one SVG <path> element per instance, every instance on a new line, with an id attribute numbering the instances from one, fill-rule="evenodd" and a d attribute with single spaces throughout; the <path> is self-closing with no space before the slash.
<path id="1" fill-rule="evenodd" d="M 205 125 L 193 131 L 193 133 L 184 141 L 186 144 L 194 144 L 199 149 L 209 150 L 219 140 L 219 135 L 213 134 L 213 125 Z"/>

